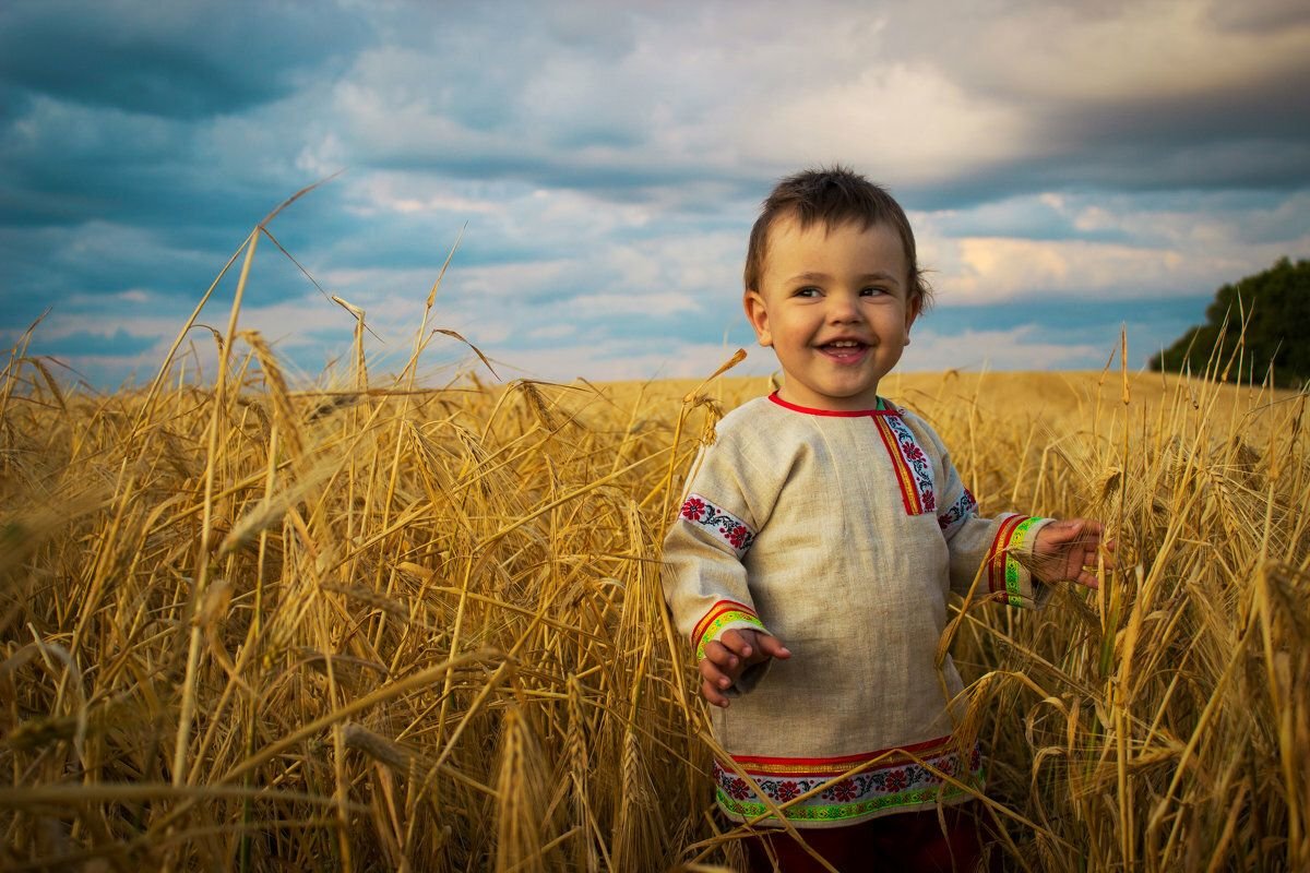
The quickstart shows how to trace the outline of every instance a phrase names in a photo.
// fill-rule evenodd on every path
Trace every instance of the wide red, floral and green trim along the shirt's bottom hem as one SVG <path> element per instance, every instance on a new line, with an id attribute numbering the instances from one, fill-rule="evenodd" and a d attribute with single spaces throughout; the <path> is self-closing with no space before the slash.
<path id="1" fill-rule="evenodd" d="M 950 801 L 968 793 L 924 764 L 977 791 L 982 788 L 982 757 L 977 746 L 960 755 L 951 737 L 844 758 L 734 755 L 732 760 L 776 806 L 821 787 L 821 791 L 782 810 L 783 817 L 793 822 L 854 823 L 900 808 Z M 865 762 L 869 767 L 841 779 L 842 774 Z M 718 760 L 714 762 L 714 784 L 719 808 L 728 817 L 745 821 L 769 815 L 769 808 L 751 789 L 751 784 Z"/>

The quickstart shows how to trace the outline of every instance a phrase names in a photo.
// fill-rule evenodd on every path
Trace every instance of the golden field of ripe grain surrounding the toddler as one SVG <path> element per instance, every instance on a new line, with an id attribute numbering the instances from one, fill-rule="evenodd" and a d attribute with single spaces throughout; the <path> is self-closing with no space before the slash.
<path id="1" fill-rule="evenodd" d="M 233 315 L 234 323 L 234 315 Z M 0 866 L 706 869 L 710 749 L 659 542 L 768 390 L 0 383 Z M 1235 376 L 1235 374 L 1234 374 Z M 951 645 L 1006 866 L 1310 866 L 1306 397 L 907 374 L 979 496 L 1095 516 L 1100 592 Z"/>

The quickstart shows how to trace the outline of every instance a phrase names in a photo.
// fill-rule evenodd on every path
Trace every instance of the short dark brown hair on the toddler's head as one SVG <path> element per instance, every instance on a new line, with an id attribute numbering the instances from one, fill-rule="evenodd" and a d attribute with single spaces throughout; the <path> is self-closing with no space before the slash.
<path id="1" fill-rule="evenodd" d="M 918 268 L 914 232 L 905 211 L 883 187 L 841 165 L 789 175 L 773 188 L 751 228 L 751 243 L 745 253 L 747 291 L 760 289 L 764 260 L 769 254 L 769 230 L 782 216 L 795 217 L 802 230 L 815 224 L 836 228 L 848 221 L 859 225 L 862 230 L 886 224 L 900 237 L 905 251 L 909 274 L 907 300 L 912 304 L 918 301 L 921 309 L 927 308 L 933 292 Z"/>

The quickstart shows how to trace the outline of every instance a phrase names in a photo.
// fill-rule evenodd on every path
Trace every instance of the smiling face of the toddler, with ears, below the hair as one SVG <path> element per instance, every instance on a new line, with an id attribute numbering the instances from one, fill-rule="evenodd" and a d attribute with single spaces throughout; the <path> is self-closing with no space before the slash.
<path id="1" fill-rule="evenodd" d="M 900 236 L 886 225 L 812 225 L 791 216 L 769 229 L 760 288 L 745 313 L 786 378 L 778 395 L 817 410 L 871 410 L 878 382 L 900 360 L 920 301 Z"/>

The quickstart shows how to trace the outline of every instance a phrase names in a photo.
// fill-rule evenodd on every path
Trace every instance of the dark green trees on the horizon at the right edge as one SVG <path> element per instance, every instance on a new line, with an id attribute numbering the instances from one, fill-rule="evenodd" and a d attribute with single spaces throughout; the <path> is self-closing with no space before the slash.
<path id="1" fill-rule="evenodd" d="M 1237 347 L 1243 314 L 1243 377 L 1254 368 L 1255 380 L 1260 381 L 1272 361 L 1279 385 L 1305 385 L 1310 380 L 1310 260 L 1292 263 L 1286 258 L 1235 285 L 1220 288 L 1214 302 L 1205 309 L 1205 325 L 1189 329 L 1155 355 L 1150 368 L 1180 372 L 1188 366 L 1193 373 L 1204 372 L 1227 318 L 1222 357 L 1218 359 L 1222 366 Z"/>

